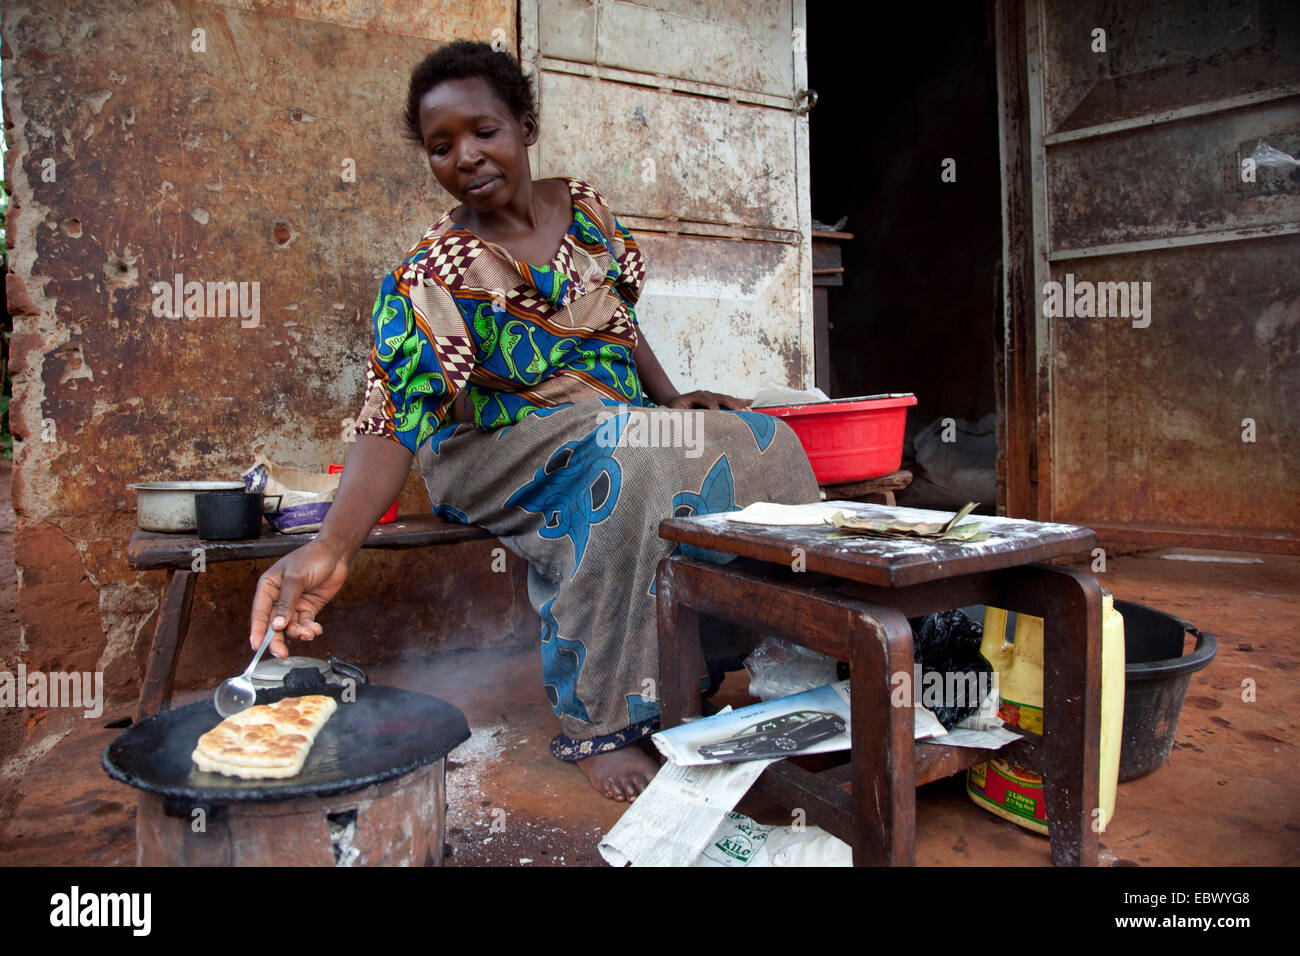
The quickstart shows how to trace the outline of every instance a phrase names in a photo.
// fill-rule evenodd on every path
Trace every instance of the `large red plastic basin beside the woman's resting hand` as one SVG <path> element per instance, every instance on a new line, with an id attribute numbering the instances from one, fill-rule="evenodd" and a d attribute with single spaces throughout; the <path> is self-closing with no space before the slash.
<path id="1" fill-rule="evenodd" d="M 781 419 L 798 436 L 818 484 L 890 475 L 902 464 L 902 433 L 913 394 L 840 398 L 810 405 L 751 408 Z"/>

